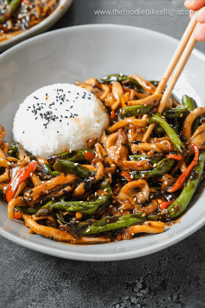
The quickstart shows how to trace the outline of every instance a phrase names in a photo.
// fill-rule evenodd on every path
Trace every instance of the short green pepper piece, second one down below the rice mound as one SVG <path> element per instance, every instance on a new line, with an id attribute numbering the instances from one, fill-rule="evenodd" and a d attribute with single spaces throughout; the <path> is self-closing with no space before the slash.
<path id="1" fill-rule="evenodd" d="M 68 161 L 68 160 L 57 159 L 55 164 L 53 165 L 53 168 L 54 170 L 57 170 L 59 172 L 71 173 L 71 174 L 79 175 L 84 178 L 95 174 L 95 172 L 93 172 L 92 170 L 80 164 L 75 166 L 72 161 Z"/>

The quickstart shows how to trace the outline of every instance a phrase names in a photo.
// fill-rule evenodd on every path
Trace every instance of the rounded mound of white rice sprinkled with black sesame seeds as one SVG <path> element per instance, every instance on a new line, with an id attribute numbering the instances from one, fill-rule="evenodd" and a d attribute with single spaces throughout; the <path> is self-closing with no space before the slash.
<path id="1" fill-rule="evenodd" d="M 46 158 L 69 149 L 86 149 L 109 124 L 102 102 L 74 84 L 42 87 L 20 104 L 13 125 L 14 141 L 34 156 Z"/>

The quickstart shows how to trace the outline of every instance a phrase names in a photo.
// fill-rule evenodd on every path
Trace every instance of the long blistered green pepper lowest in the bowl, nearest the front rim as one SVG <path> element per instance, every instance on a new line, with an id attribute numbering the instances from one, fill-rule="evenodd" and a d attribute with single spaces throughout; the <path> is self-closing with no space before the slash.
<path id="1" fill-rule="evenodd" d="M 91 224 L 89 221 L 83 221 L 71 226 L 71 228 L 75 232 L 80 232 L 82 234 L 100 233 L 143 223 L 145 221 L 145 217 L 142 215 L 143 213 L 135 213 L 124 216 L 106 217 L 98 221 L 94 221 Z"/>

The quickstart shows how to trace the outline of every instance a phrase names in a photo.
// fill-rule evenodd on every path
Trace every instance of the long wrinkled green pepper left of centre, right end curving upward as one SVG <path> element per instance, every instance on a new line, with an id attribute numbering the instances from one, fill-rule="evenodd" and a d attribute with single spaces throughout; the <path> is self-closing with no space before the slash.
<path id="1" fill-rule="evenodd" d="M 51 200 L 47 202 L 41 209 L 38 210 L 36 216 L 41 215 L 49 215 L 52 211 L 62 210 L 66 212 L 81 212 L 83 214 L 96 214 L 102 211 L 102 209 L 106 206 L 109 198 L 111 197 L 112 189 L 110 184 L 107 183 L 105 185 L 107 188 L 106 193 L 100 197 L 96 197 L 97 199 L 93 202 L 83 202 L 80 203 L 78 201 L 64 201 L 64 199 L 60 199 L 59 201 Z"/>

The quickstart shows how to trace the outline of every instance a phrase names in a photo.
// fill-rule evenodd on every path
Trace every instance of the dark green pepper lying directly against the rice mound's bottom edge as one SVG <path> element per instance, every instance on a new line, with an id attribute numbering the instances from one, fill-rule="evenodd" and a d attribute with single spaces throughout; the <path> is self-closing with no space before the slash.
<path id="1" fill-rule="evenodd" d="M 51 156 L 47 157 L 47 161 L 49 163 L 49 165 L 53 165 L 57 159 L 61 159 L 61 160 L 69 160 L 69 161 L 80 161 L 80 160 L 86 160 L 85 156 L 84 156 L 84 152 L 93 152 L 94 149 L 91 150 L 77 150 L 77 151 L 72 151 L 70 152 L 63 152 L 63 153 L 58 153 L 58 154 L 54 154 Z"/>

